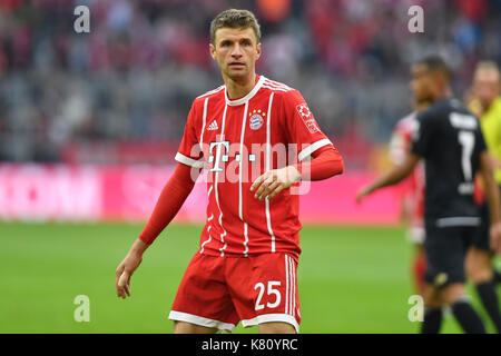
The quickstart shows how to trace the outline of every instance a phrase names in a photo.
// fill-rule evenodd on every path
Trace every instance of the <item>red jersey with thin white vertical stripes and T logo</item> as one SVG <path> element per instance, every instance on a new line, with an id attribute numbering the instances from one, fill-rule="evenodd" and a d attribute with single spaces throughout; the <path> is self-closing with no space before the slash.
<path id="1" fill-rule="evenodd" d="M 274 199 L 258 200 L 253 181 L 332 145 L 302 95 L 258 77 L 254 89 L 230 100 L 222 86 L 193 102 L 176 155 L 207 169 L 207 221 L 200 254 L 240 257 L 287 253 L 298 257 L 299 197 L 295 184 Z"/>

